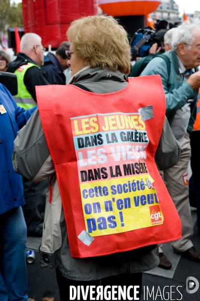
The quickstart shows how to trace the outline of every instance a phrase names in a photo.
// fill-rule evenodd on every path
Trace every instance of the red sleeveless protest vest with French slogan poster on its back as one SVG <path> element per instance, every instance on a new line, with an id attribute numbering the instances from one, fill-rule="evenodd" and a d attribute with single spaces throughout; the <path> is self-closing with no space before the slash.
<path id="1" fill-rule="evenodd" d="M 165 116 L 158 75 L 97 94 L 36 87 L 55 165 L 72 257 L 94 257 L 181 237 L 154 162 Z"/>

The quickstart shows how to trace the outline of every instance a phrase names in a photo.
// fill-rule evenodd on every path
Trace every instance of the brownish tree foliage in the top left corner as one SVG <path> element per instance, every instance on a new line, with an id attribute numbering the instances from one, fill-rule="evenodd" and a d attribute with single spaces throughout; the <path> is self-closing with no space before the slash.
<path id="1" fill-rule="evenodd" d="M 0 0 L 0 32 L 7 35 L 8 27 L 23 27 L 22 3 Z"/>

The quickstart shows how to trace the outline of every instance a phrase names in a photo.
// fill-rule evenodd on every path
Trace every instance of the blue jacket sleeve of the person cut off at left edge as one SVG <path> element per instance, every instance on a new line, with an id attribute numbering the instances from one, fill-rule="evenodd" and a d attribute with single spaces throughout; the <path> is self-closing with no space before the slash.
<path id="1" fill-rule="evenodd" d="M 24 108 L 17 106 L 15 99 L 13 98 L 13 96 L 11 95 L 9 90 L 3 84 L 1 84 L 1 89 L 4 90 L 4 92 L 8 95 L 8 97 L 12 101 L 14 109 L 15 109 L 16 123 L 17 123 L 19 129 L 22 129 L 24 127 L 24 125 L 27 123 L 27 121 L 29 120 L 29 118 L 31 117 L 31 115 L 34 113 L 34 111 L 38 108 L 38 106 L 28 109 L 28 110 L 25 110 Z"/>

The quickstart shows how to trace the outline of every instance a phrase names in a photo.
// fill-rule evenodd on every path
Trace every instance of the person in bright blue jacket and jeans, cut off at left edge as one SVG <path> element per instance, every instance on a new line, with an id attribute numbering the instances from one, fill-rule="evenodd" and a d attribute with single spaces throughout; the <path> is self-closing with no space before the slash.
<path id="1" fill-rule="evenodd" d="M 24 110 L 16 105 L 0 83 L 0 241 L 3 244 L 0 273 L 1 301 L 28 301 L 26 239 L 27 227 L 22 212 L 25 204 L 22 176 L 12 165 L 13 142 L 37 106 Z"/>

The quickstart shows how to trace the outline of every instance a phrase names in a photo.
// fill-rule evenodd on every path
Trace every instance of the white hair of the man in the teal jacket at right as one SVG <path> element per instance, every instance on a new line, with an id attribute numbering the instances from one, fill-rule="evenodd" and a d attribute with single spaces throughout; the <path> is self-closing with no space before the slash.
<path id="1" fill-rule="evenodd" d="M 179 43 L 192 44 L 194 28 L 200 29 L 200 22 L 193 21 L 192 23 L 183 22 L 177 27 L 176 32 L 172 35 L 171 46 L 172 50 L 176 51 L 178 49 Z M 189 47 L 189 46 L 188 46 Z"/>

